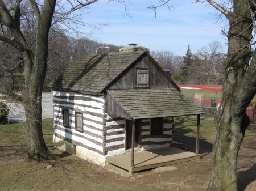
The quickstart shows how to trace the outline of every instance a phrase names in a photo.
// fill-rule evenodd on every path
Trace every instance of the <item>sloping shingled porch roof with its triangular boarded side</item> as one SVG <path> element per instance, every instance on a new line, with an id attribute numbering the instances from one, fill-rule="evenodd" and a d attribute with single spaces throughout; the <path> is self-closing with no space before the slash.
<path id="1" fill-rule="evenodd" d="M 107 90 L 108 114 L 131 120 L 204 114 L 175 88 L 159 90 Z M 121 112 L 122 110 L 122 112 Z M 121 115 L 123 116 L 120 116 Z"/>

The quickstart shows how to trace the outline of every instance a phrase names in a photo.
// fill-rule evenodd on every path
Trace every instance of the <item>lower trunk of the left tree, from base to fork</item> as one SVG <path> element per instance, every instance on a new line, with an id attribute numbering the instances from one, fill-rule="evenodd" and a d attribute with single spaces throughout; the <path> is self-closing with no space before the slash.
<path id="1" fill-rule="evenodd" d="M 55 156 L 49 152 L 44 142 L 42 131 L 42 87 L 44 72 L 42 73 L 41 71 L 39 75 L 38 68 L 42 66 L 40 66 L 40 62 L 35 62 L 34 54 L 28 52 L 23 57 L 27 66 L 25 67 L 25 94 L 23 96 L 26 113 L 25 133 L 27 155 L 28 158 L 38 161 L 54 159 Z M 37 66 L 36 69 L 35 66 Z"/>

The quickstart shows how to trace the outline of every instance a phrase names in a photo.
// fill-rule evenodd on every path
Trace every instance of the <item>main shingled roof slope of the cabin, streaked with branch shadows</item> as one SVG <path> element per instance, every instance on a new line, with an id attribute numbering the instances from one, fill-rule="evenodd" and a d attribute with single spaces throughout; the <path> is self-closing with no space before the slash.
<path id="1" fill-rule="evenodd" d="M 69 67 L 52 86 L 54 89 L 100 93 L 144 51 L 91 54 Z"/>

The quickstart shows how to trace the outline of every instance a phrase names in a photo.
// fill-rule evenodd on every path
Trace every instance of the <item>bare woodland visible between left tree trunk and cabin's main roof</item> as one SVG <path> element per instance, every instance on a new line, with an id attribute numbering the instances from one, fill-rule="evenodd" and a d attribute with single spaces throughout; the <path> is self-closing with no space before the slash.
<path id="1" fill-rule="evenodd" d="M 62 74 L 69 66 L 88 54 L 95 54 L 98 47 L 108 47 L 98 49 L 97 53 L 118 52 L 121 46 L 101 43 L 90 40 L 86 37 L 73 39 L 59 32 L 49 34 L 49 56 L 46 72 L 46 82 L 49 83 Z"/>

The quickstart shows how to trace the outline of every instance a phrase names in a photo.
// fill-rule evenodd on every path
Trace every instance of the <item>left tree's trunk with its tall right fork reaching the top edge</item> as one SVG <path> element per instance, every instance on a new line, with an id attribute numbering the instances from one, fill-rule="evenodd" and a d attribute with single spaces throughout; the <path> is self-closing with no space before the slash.
<path id="1" fill-rule="evenodd" d="M 38 161 L 54 159 L 43 139 L 42 132 L 42 90 L 46 77 L 48 58 L 48 35 L 56 0 L 44 1 L 40 14 L 36 15 L 38 30 L 36 33 L 36 50 L 33 54 L 25 50 L 25 95 L 26 141 L 28 158 Z"/>

